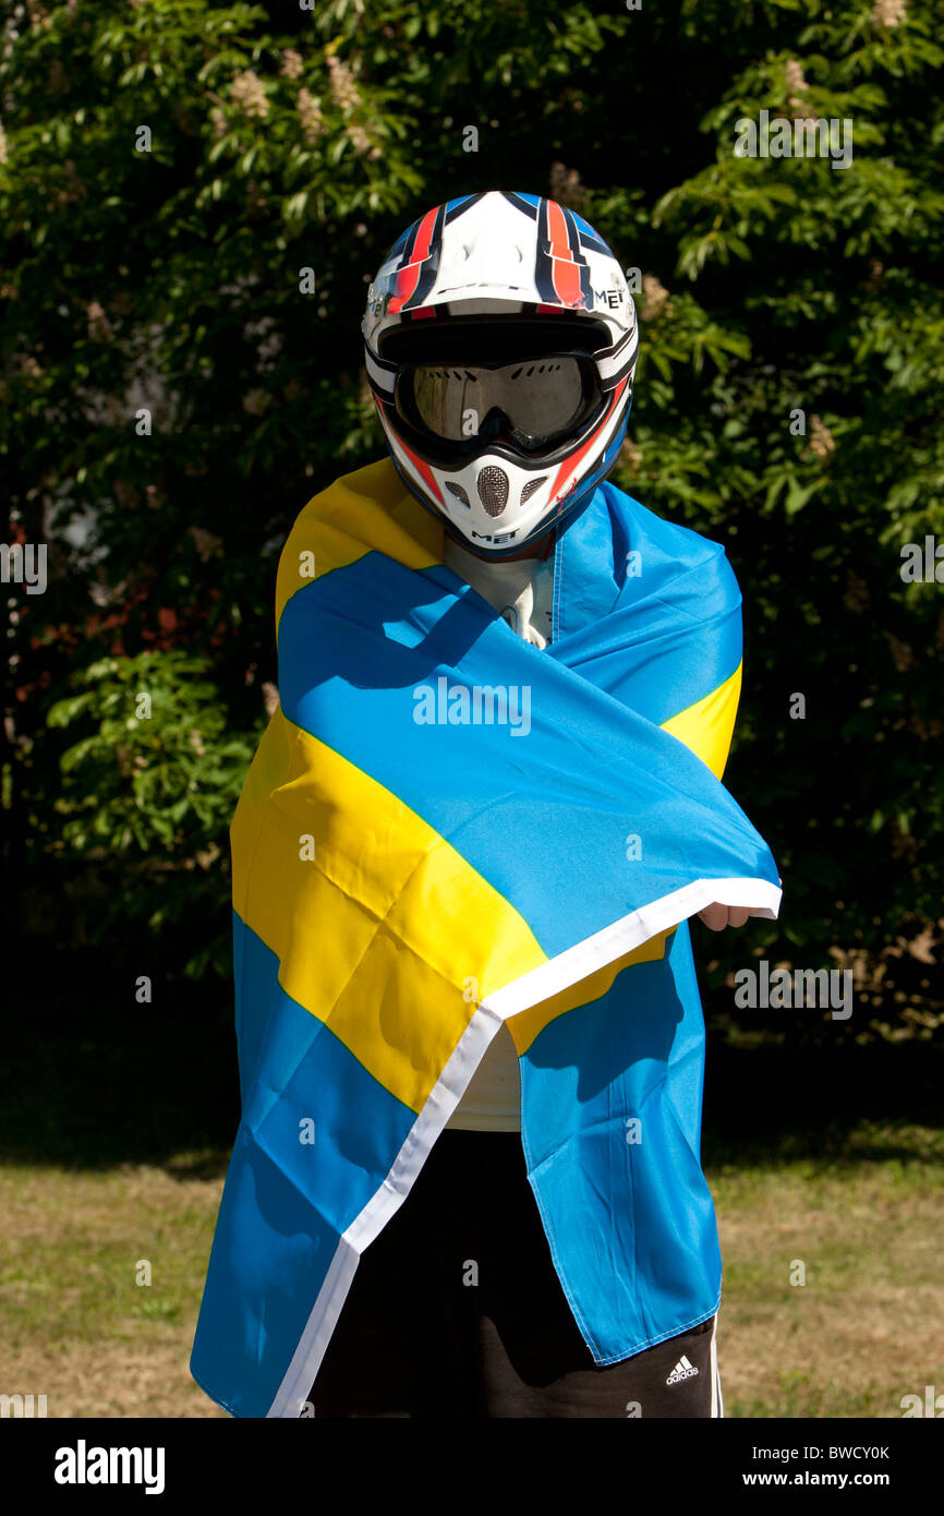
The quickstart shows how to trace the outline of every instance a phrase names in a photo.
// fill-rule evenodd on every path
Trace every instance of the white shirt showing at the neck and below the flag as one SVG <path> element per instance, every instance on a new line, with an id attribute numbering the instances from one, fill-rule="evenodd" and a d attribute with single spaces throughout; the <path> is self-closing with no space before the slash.
<path id="1" fill-rule="evenodd" d="M 555 585 L 553 556 L 517 562 L 476 558 L 445 538 L 445 567 L 471 584 L 511 629 L 535 647 L 547 647 Z M 508 1026 L 499 1028 L 471 1076 L 465 1095 L 445 1123 L 461 1131 L 521 1131 L 521 1076 Z"/>

